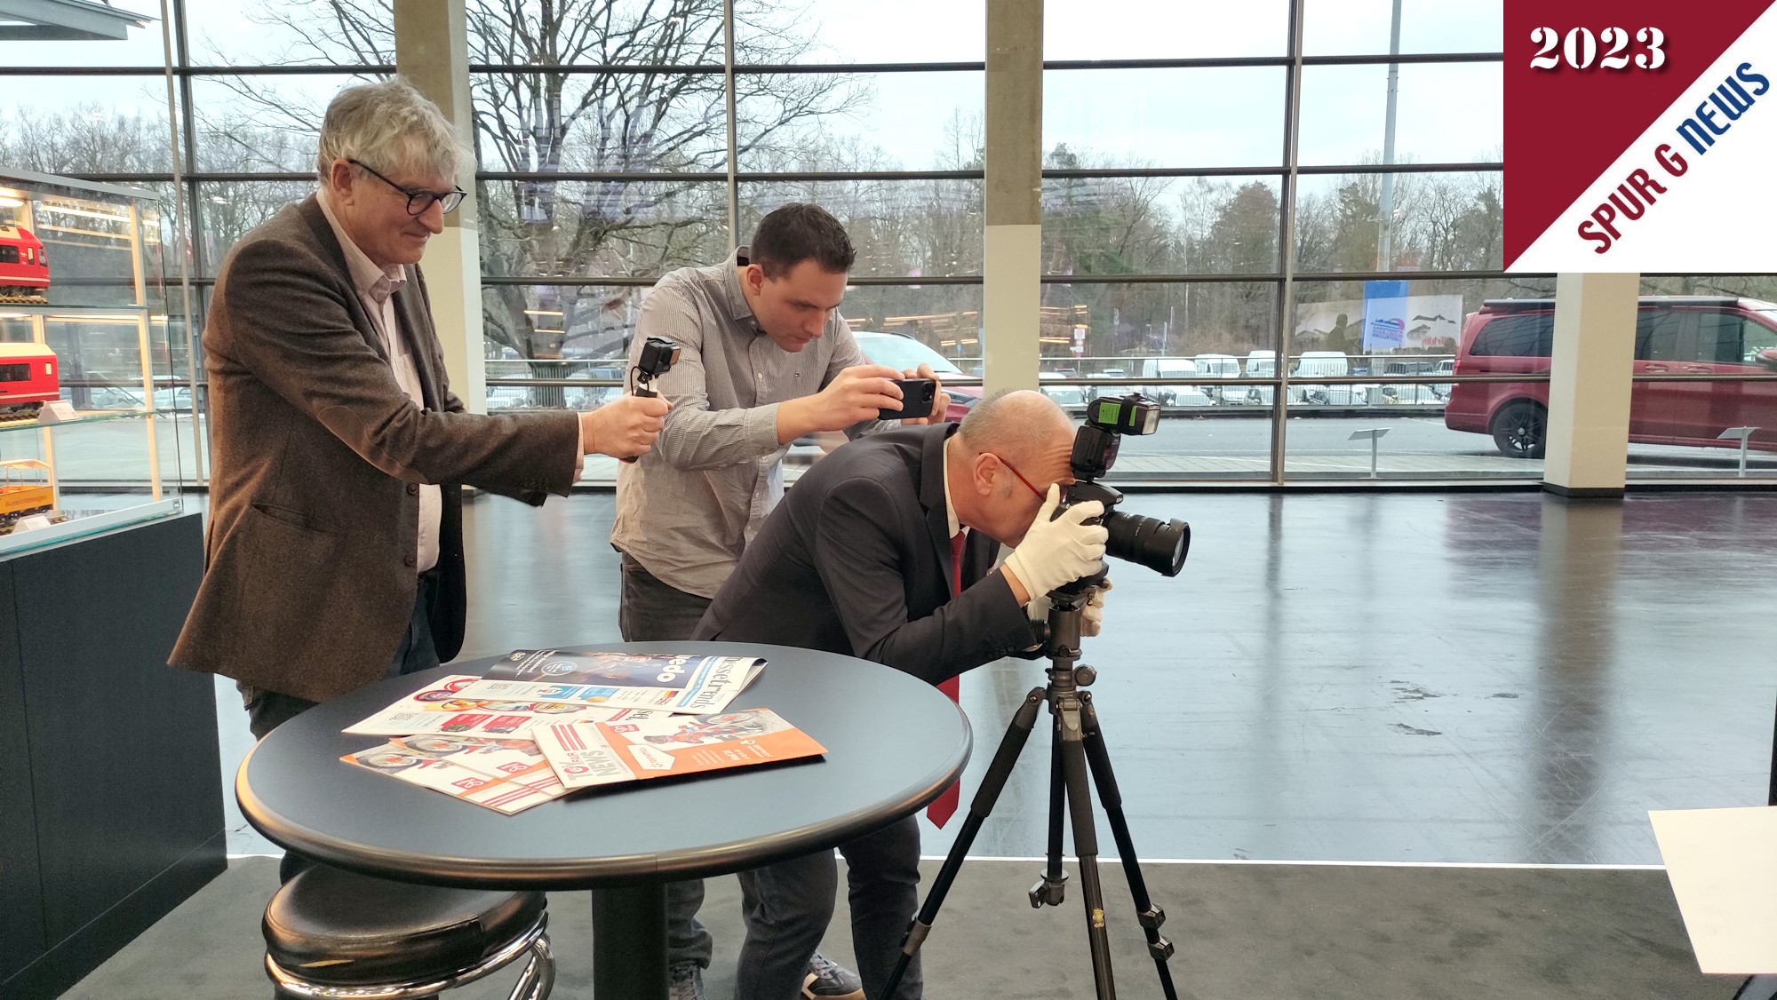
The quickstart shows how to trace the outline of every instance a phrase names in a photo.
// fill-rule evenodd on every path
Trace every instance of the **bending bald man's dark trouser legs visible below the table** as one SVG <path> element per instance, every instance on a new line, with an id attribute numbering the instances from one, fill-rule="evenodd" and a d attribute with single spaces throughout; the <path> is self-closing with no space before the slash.
<path id="1" fill-rule="evenodd" d="M 919 911 L 919 822 L 913 817 L 841 844 L 846 858 L 846 901 L 851 908 L 851 950 L 858 957 L 864 995 L 883 1000 L 883 984 L 901 956 L 901 938 Z M 809 959 L 833 918 L 839 865 L 819 851 L 741 872 L 748 897 L 746 943 L 734 980 L 734 1000 L 784 1000 L 801 989 Z M 919 1000 L 924 979 L 919 956 L 888 1000 Z"/>

